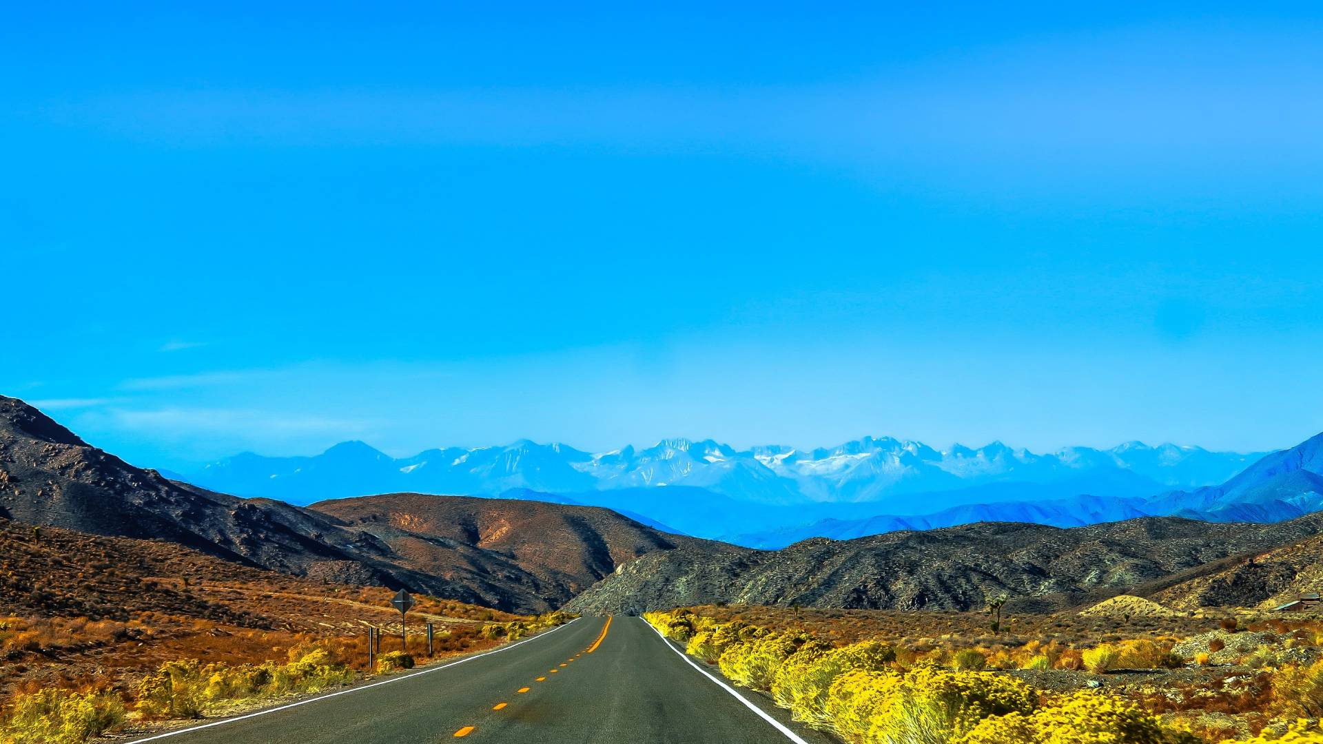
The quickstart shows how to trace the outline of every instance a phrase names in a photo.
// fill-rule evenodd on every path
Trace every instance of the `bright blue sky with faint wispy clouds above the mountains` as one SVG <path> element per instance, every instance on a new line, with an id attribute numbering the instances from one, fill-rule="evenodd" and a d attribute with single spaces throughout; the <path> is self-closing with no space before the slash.
<path id="1" fill-rule="evenodd" d="M 1323 430 L 1316 7 L 267 5 L 0 28 L 0 393 L 135 462 Z"/>

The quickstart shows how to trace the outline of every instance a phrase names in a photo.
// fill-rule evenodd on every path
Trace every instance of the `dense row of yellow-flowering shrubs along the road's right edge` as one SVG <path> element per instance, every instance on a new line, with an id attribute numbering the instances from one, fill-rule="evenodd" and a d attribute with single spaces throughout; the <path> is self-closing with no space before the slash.
<path id="1" fill-rule="evenodd" d="M 1183 667 L 1183 659 L 1172 653 L 1175 639 L 1166 635 L 1111 637 L 1086 649 L 1057 641 L 951 649 L 929 639 L 910 646 L 859 635 L 847 637 L 849 642 L 840 635 L 828 641 L 792 624 L 759 626 L 726 608 L 712 614 L 705 608 L 650 612 L 644 618 L 667 638 L 684 643 L 689 654 L 718 665 L 732 680 L 767 692 L 795 720 L 830 731 L 848 744 L 1209 740 L 1146 710 L 1148 700 L 1140 703 L 1103 690 L 1041 688 L 1016 676 L 1024 674 L 1020 670 L 1060 675 Z M 1320 715 L 1307 707 L 1314 700 L 1307 673 L 1301 673 L 1304 682 L 1290 678 L 1293 692 L 1285 695 L 1294 702 L 1282 708 L 1283 714 Z M 1245 699 L 1258 700 L 1256 695 Z"/>

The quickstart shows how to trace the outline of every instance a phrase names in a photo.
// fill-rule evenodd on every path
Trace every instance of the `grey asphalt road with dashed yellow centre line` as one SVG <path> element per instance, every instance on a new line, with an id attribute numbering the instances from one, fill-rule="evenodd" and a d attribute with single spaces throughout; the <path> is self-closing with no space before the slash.
<path id="1" fill-rule="evenodd" d="M 716 670 L 704 674 L 638 617 L 585 617 L 386 679 L 134 744 L 830 741 L 757 695 L 734 692 Z"/>

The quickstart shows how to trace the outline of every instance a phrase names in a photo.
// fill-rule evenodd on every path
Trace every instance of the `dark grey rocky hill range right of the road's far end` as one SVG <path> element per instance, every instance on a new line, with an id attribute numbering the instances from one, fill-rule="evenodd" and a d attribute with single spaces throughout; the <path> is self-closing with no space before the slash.
<path id="1" fill-rule="evenodd" d="M 1005 593 L 1024 610 L 1098 601 L 1209 561 L 1318 534 L 1319 518 L 1208 524 L 1144 518 L 1061 530 L 984 523 L 713 555 L 703 547 L 626 564 L 568 605 L 640 612 L 712 602 L 861 609 L 978 609 Z M 1044 598 L 1037 608 L 1032 601 Z"/>

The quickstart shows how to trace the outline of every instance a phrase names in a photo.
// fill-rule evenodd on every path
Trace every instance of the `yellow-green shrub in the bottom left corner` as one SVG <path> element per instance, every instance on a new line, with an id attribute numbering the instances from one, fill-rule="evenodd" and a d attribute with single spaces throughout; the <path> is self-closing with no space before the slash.
<path id="1" fill-rule="evenodd" d="M 15 698 L 9 718 L 0 723 L 0 741 L 79 744 L 122 720 L 124 704 L 114 695 L 41 690 Z"/>

